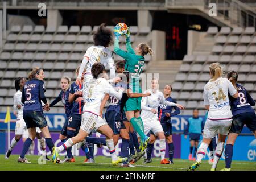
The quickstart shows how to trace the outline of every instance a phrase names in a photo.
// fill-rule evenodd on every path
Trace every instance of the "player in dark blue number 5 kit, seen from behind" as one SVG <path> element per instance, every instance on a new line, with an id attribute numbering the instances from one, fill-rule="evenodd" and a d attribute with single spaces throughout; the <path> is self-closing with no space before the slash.
<path id="1" fill-rule="evenodd" d="M 49 103 L 46 100 L 46 96 L 44 96 L 46 88 L 43 81 L 43 69 L 32 69 L 28 75 L 28 78 L 29 81 L 26 82 L 22 90 L 22 103 L 24 104 L 23 119 L 26 122 L 29 137 L 27 138 L 26 142 L 24 142 L 22 154 L 18 159 L 18 162 L 22 163 L 30 163 L 25 158 L 25 154 L 36 137 L 36 127 L 39 127 L 39 129 L 42 131 L 44 138 L 46 139 L 46 144 L 51 152 L 54 147 L 41 104 L 42 101 L 45 104 L 44 109 L 47 111 L 49 110 Z M 57 159 L 57 162 L 60 163 L 60 160 Z"/>

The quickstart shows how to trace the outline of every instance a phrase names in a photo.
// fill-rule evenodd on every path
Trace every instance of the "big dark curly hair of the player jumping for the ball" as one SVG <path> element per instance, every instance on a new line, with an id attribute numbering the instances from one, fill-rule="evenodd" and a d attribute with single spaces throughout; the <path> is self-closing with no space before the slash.
<path id="1" fill-rule="evenodd" d="M 104 46 L 108 47 L 113 44 L 113 34 L 110 28 L 106 27 L 105 23 L 102 23 L 97 32 L 93 35 L 94 45 L 95 46 Z"/>

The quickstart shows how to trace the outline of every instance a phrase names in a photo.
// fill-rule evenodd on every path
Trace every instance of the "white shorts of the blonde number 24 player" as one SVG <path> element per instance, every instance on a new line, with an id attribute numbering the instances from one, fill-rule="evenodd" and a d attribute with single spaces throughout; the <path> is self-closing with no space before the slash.
<path id="1" fill-rule="evenodd" d="M 228 135 L 232 119 L 213 121 L 207 119 L 204 125 L 204 138 L 214 138 L 217 134 Z"/>

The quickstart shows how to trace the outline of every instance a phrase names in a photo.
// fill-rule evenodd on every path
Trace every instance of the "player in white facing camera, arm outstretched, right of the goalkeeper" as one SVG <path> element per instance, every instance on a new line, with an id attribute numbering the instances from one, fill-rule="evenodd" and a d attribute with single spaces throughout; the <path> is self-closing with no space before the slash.
<path id="1" fill-rule="evenodd" d="M 151 130 L 160 140 L 161 164 L 169 164 L 170 162 L 164 158 L 166 155 L 166 137 L 164 136 L 163 127 L 158 119 L 158 107 L 160 104 L 176 106 L 179 107 L 179 109 L 184 109 L 184 107 L 180 104 L 167 101 L 158 88 L 159 80 L 153 79 L 151 81 L 151 89 L 145 91 L 145 93 L 151 92 L 151 96 L 142 97 L 141 100 L 141 118 L 144 125 L 144 134 L 147 135 Z M 150 143 L 154 143 L 154 138 L 152 137 L 153 135 L 150 136 Z"/>

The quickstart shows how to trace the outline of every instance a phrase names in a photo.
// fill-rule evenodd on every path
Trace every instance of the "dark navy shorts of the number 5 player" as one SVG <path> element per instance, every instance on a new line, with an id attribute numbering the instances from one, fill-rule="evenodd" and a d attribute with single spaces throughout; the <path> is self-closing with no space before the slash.
<path id="1" fill-rule="evenodd" d="M 23 111 L 23 119 L 28 129 L 31 127 L 39 127 L 39 129 L 42 129 L 47 126 L 46 118 L 41 111 Z"/>

